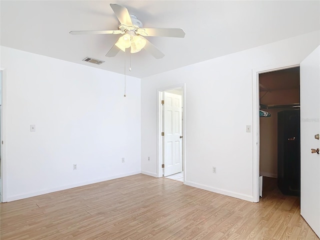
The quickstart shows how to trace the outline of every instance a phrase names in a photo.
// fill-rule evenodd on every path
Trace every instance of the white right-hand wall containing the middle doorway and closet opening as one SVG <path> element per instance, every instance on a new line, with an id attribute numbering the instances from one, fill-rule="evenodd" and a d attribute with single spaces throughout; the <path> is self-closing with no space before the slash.
<path id="1" fill-rule="evenodd" d="M 156 174 L 156 89 L 185 82 L 185 183 L 253 201 L 252 69 L 298 64 L 318 44 L 316 31 L 141 79 L 141 171 Z"/>

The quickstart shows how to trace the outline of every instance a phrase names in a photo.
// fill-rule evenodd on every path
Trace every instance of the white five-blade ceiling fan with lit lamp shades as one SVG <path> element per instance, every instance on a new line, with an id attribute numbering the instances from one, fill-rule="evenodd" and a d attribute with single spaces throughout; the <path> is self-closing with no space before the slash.
<path id="1" fill-rule="evenodd" d="M 185 32 L 181 28 L 143 28 L 142 23 L 128 9 L 118 4 L 110 4 L 120 25 L 118 30 L 84 30 L 70 31 L 70 34 L 122 34 L 105 56 L 115 56 L 119 50 L 125 51 L 130 47 L 130 52 L 135 53 L 142 48 L 147 50 L 155 58 L 162 58 L 164 54 L 157 49 L 144 36 L 169 36 L 184 37 Z"/>

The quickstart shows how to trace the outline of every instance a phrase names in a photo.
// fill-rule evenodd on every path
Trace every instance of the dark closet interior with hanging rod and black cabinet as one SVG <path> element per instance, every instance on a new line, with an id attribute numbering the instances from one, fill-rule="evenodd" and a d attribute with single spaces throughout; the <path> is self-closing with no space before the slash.
<path id="1" fill-rule="evenodd" d="M 263 188 L 280 188 L 283 194 L 299 195 L 299 66 L 260 73 L 258 83 L 260 110 L 269 113 L 259 117 L 260 194 L 263 196 Z"/>

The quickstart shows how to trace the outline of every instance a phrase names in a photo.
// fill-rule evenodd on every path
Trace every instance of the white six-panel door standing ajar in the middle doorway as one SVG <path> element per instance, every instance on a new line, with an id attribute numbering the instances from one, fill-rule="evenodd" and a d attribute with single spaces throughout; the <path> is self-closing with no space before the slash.
<path id="1" fill-rule="evenodd" d="M 182 97 L 164 92 L 163 176 L 182 171 Z"/>

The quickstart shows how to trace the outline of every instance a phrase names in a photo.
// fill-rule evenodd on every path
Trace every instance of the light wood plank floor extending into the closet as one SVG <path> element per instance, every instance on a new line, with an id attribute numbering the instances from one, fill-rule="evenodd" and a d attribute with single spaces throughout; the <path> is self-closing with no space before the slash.
<path id="1" fill-rule="evenodd" d="M 252 203 L 143 174 L 0 204 L 0 239 L 319 239 L 264 179 Z"/>

